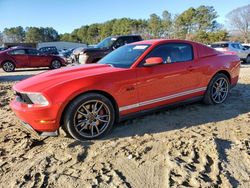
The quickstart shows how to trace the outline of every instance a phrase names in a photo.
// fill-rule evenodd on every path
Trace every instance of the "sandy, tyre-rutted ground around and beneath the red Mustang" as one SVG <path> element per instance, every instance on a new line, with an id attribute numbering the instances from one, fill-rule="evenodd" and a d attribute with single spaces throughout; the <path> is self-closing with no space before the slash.
<path id="1" fill-rule="evenodd" d="M 8 105 L 14 82 L 0 79 L 0 187 L 250 187 L 250 68 L 222 105 L 143 116 L 83 143 L 32 137 Z"/>

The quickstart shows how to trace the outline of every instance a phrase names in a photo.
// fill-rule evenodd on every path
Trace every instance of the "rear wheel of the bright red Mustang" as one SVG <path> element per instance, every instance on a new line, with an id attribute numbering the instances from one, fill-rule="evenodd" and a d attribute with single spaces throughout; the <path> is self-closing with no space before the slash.
<path id="1" fill-rule="evenodd" d="M 205 97 L 205 104 L 221 104 L 228 96 L 230 83 L 225 74 L 216 74 L 210 81 Z"/>

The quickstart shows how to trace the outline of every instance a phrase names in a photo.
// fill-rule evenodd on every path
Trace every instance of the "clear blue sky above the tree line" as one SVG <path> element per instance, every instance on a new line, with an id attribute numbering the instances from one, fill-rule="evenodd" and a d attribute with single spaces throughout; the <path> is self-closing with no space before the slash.
<path id="1" fill-rule="evenodd" d="M 148 19 L 164 10 L 178 14 L 190 7 L 214 6 L 217 21 L 227 26 L 226 14 L 249 0 L 0 0 L 0 31 L 5 27 L 53 27 L 60 34 L 82 25 L 114 18 Z"/>

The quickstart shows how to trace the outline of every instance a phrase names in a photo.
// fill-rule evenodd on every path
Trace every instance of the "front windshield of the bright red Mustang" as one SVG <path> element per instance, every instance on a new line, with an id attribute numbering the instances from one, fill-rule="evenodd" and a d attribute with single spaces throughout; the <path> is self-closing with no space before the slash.
<path id="1" fill-rule="evenodd" d="M 114 67 L 129 68 L 150 45 L 125 45 L 111 52 L 99 61 L 100 64 L 110 64 Z"/>

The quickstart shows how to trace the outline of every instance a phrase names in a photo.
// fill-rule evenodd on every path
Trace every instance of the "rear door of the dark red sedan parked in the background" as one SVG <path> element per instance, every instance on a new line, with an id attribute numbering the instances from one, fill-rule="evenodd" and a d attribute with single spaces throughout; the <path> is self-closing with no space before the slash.
<path id="1" fill-rule="evenodd" d="M 16 67 L 29 66 L 29 59 L 24 49 L 14 49 L 8 53 L 14 59 Z"/>

